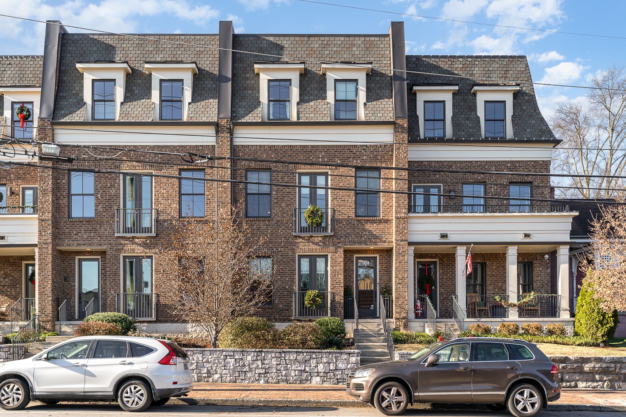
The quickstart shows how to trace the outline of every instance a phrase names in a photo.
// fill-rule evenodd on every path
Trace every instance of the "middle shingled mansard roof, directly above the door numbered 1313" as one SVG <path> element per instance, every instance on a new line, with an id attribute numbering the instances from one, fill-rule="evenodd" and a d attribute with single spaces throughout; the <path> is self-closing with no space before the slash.
<path id="1" fill-rule="evenodd" d="M 233 53 L 233 121 L 260 121 L 259 76 L 254 63 L 259 61 L 302 61 L 316 59 L 335 62 L 371 62 L 372 67 L 390 68 L 389 36 L 371 35 L 237 35 L 233 49 L 279 55 Z M 366 120 L 393 120 L 391 76 L 372 69 L 366 76 Z M 331 106 L 326 101 L 326 76 L 320 63 L 305 62 L 300 75 L 300 121 L 329 121 Z"/>

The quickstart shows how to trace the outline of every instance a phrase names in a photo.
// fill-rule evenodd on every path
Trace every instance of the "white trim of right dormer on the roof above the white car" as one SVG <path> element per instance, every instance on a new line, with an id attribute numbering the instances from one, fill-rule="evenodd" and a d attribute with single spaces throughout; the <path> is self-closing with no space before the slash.
<path id="1" fill-rule="evenodd" d="M 146 72 L 152 75 L 152 103 L 155 104 L 154 120 L 161 119 L 161 81 L 183 80 L 183 121 L 192 102 L 193 76 L 198 73 L 196 63 L 144 63 Z"/>

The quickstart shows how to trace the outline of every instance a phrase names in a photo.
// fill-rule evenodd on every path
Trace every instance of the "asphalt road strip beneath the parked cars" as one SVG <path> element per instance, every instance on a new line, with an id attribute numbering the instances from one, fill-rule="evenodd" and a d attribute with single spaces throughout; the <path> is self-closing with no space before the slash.
<path id="1" fill-rule="evenodd" d="M 132 417 L 132 416 L 197 416 L 197 417 L 380 417 L 376 409 L 368 408 L 334 408 L 334 407 L 245 407 L 245 406 L 197 406 L 197 405 L 165 405 L 148 408 L 142 413 L 125 413 L 116 404 L 56 404 L 43 405 L 31 403 L 21 411 L 4 411 L 0 409 L 1 417 L 56 417 L 56 416 L 87 416 L 87 417 Z M 543 412 L 538 417 L 625 417 L 626 413 L 590 413 L 582 411 Z M 491 411 L 431 411 L 423 409 L 409 409 L 404 416 L 424 417 L 512 417 L 509 413 L 493 413 Z"/>

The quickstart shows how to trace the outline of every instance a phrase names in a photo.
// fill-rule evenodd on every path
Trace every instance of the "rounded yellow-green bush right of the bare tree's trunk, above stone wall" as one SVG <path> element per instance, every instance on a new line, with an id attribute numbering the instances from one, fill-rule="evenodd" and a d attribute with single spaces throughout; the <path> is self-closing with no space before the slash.
<path id="1" fill-rule="evenodd" d="M 267 319 L 240 317 L 225 326 L 217 343 L 225 349 L 278 349 L 280 334 Z"/>

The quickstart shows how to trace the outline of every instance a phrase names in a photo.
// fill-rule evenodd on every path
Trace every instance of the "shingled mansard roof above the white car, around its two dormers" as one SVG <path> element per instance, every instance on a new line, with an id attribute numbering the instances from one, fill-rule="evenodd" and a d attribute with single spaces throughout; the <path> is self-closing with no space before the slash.
<path id="1" fill-rule="evenodd" d="M 59 84 L 54 104 L 54 119 L 85 120 L 83 74 L 76 61 L 128 61 L 132 73 L 126 75 L 126 94 L 120 107 L 120 121 L 151 121 L 151 75 L 144 63 L 150 61 L 195 61 L 192 103 L 187 121 L 215 121 L 217 118 L 217 34 L 145 35 L 201 46 L 181 45 L 110 34 L 63 34 Z M 211 48 L 204 48 L 210 46 Z"/>

